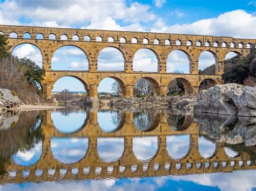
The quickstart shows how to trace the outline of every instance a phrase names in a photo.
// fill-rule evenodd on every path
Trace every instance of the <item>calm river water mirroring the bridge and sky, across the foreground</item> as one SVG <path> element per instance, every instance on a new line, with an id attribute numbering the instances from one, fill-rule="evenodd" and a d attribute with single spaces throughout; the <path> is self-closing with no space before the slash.
<path id="1" fill-rule="evenodd" d="M 64 108 L 0 116 L 0 190 L 256 190 L 255 118 Z"/>

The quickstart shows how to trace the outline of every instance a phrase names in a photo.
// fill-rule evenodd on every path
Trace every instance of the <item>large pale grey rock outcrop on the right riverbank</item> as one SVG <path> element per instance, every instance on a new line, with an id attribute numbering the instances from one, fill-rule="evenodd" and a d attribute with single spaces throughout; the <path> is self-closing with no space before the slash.
<path id="1" fill-rule="evenodd" d="M 194 111 L 256 117 L 256 87 L 227 83 L 203 90 Z"/>

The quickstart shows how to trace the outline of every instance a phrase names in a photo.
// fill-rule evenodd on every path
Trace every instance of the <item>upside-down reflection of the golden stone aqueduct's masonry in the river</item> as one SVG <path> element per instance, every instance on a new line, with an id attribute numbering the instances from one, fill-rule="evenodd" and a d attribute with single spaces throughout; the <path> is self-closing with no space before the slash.
<path id="1" fill-rule="evenodd" d="M 198 148 L 199 126 L 193 118 L 186 117 L 182 131 L 170 128 L 167 114 L 161 112 L 154 116 L 153 127 L 147 131 L 140 131 L 133 124 L 132 112 L 122 112 L 122 119 L 118 128 L 113 132 L 104 132 L 97 123 L 97 110 L 87 110 L 84 126 L 74 133 L 61 133 L 52 123 L 51 111 L 43 115 L 41 129 L 43 133 L 42 155 L 31 166 L 20 166 L 11 161 L 6 165 L 6 171 L 16 172 L 15 176 L 6 173 L 0 179 L 3 183 L 19 183 L 24 181 L 55 181 L 84 180 L 98 178 L 145 177 L 162 175 L 185 175 L 214 172 L 232 172 L 237 170 L 255 169 L 255 162 L 250 154 L 239 153 L 236 157 L 228 157 L 224 143 L 215 144 L 215 152 L 210 158 L 203 158 Z M 170 135 L 190 135 L 189 150 L 184 158 L 174 159 L 169 155 L 166 147 L 166 137 Z M 156 154 L 148 161 L 140 161 L 133 152 L 134 137 L 158 137 Z M 88 138 L 86 154 L 78 162 L 64 164 L 58 161 L 51 151 L 51 138 L 56 137 L 85 137 Z M 124 139 L 122 156 L 111 162 L 102 160 L 97 150 L 97 138 L 117 137 Z M 106 140 L 107 141 L 107 140 Z M 86 148 L 85 148 L 86 149 Z M 242 165 L 239 162 L 242 161 Z M 248 165 L 247 161 L 251 164 Z M 223 165 L 223 162 L 225 165 Z M 206 165 L 208 164 L 208 166 Z M 73 173 L 76 169 L 77 173 Z M 38 175 L 37 171 L 41 171 Z M 63 173 L 64 171 L 64 173 Z M 23 172 L 29 172 L 28 176 Z M 11 173 L 13 174 L 13 173 Z"/>

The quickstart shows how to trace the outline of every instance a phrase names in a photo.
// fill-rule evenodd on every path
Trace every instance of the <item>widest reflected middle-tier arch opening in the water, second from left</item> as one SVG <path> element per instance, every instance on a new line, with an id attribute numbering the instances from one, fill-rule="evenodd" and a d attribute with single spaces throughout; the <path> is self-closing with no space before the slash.
<path id="1" fill-rule="evenodd" d="M 88 138 L 51 138 L 53 158 L 64 164 L 76 163 L 84 158 Z"/>

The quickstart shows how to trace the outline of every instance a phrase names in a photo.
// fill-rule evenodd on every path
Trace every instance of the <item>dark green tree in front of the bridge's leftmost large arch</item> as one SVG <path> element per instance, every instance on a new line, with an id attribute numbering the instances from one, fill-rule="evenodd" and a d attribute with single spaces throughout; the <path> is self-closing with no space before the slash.
<path id="1" fill-rule="evenodd" d="M 19 60 L 21 65 L 25 68 L 26 80 L 32 85 L 38 87 L 45 76 L 45 69 L 40 68 L 32 60 L 24 57 Z"/>

